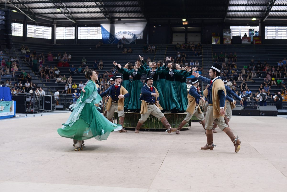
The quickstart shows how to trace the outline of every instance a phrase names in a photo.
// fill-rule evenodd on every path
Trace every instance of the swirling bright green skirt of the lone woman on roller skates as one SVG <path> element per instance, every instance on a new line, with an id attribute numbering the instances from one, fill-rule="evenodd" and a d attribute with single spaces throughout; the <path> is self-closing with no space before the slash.
<path id="1" fill-rule="evenodd" d="M 58 133 L 62 137 L 76 140 L 93 137 L 106 140 L 110 132 L 121 129 L 122 126 L 107 120 L 93 103 L 77 103 L 67 122 L 58 129 Z"/>

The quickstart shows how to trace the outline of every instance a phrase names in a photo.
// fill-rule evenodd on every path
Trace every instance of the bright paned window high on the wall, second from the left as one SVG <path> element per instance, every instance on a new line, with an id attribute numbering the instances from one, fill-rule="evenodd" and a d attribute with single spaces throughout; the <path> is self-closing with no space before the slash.
<path id="1" fill-rule="evenodd" d="M 27 37 L 52 39 L 52 27 L 27 25 Z"/>

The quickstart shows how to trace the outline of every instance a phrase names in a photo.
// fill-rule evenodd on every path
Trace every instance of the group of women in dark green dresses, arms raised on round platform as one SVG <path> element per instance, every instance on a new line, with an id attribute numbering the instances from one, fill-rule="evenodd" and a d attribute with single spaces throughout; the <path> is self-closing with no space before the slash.
<path id="1" fill-rule="evenodd" d="M 129 62 L 122 67 L 113 62 L 119 73 L 123 74 L 123 87 L 130 93 L 129 98 L 125 99 L 125 111 L 138 112 L 141 109 L 141 76 L 146 74 L 153 76 L 153 86 L 158 90 L 160 105 L 164 111 L 185 112 L 188 103 L 186 78 L 191 76 L 191 68 L 172 64 L 169 57 L 166 57 L 166 63 L 158 61 L 148 64 L 143 57 L 139 58 L 141 62 L 135 62 L 134 66 Z"/>

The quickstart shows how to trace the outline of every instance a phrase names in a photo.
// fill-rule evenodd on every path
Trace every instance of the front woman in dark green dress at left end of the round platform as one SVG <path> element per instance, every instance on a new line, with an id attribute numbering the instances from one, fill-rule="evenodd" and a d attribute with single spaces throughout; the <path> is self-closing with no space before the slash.
<path id="1" fill-rule="evenodd" d="M 129 90 L 127 90 L 129 95 L 129 103 L 124 106 L 127 110 L 132 110 L 134 112 L 141 110 L 141 101 L 139 100 L 139 96 L 141 94 L 141 87 L 143 86 L 141 82 L 141 75 L 143 74 L 143 70 L 140 68 L 140 62 L 136 62 L 133 70 L 127 70 L 125 68 L 122 68 L 120 64 L 117 64 L 117 68 L 119 70 L 119 73 L 122 74 L 129 74 L 133 76 L 133 80 L 131 81 L 131 86 Z"/>

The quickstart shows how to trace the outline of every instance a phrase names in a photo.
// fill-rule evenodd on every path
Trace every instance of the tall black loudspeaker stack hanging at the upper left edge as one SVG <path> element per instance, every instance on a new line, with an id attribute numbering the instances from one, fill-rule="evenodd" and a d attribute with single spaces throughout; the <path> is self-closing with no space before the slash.
<path id="1" fill-rule="evenodd" d="M 0 45 L 1 49 L 12 49 L 12 12 L 0 10 Z"/>

